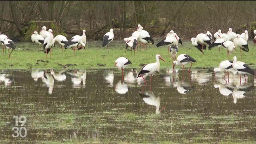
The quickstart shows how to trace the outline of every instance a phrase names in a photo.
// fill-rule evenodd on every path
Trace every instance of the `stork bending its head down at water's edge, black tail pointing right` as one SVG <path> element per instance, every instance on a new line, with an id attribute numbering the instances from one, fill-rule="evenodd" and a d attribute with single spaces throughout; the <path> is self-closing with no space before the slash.
<path id="1" fill-rule="evenodd" d="M 184 69 L 185 69 L 184 66 L 185 66 L 186 64 L 191 63 L 191 66 L 192 66 L 192 64 L 193 64 L 194 62 L 196 62 L 196 60 L 195 60 L 194 58 L 192 58 L 190 55 L 188 55 L 188 54 L 180 54 L 180 55 L 178 56 L 178 58 L 177 58 L 177 61 L 175 60 L 175 61 L 173 62 L 172 71 L 174 70 L 174 66 L 175 66 L 175 65 L 182 65 L 182 68 L 183 68 L 183 71 L 184 71 Z M 191 66 L 190 66 L 190 68 L 191 68 Z M 190 71 L 190 68 L 189 68 L 188 71 Z"/>

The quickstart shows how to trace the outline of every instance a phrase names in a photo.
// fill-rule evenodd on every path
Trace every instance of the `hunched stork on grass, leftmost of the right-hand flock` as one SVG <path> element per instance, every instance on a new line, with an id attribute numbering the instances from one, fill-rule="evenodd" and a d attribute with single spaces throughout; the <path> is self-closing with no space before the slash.
<path id="1" fill-rule="evenodd" d="M 211 44 L 210 38 L 206 34 L 200 33 L 196 38 L 191 38 L 192 45 L 196 47 L 200 52 L 204 54 L 206 50 L 206 44 Z"/>

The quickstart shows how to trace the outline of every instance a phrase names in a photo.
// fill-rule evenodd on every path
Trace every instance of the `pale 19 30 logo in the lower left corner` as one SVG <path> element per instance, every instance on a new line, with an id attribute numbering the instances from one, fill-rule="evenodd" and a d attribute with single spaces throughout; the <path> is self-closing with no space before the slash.
<path id="1" fill-rule="evenodd" d="M 15 134 L 12 134 L 12 137 L 17 138 L 20 136 L 22 138 L 25 138 L 27 136 L 27 129 L 24 127 L 24 124 L 27 121 L 26 116 L 13 116 L 13 118 L 15 118 L 15 127 L 13 127 L 12 130 L 14 130 Z M 17 127 L 18 123 L 21 123 L 20 128 Z M 22 132 L 24 133 L 22 134 Z"/>

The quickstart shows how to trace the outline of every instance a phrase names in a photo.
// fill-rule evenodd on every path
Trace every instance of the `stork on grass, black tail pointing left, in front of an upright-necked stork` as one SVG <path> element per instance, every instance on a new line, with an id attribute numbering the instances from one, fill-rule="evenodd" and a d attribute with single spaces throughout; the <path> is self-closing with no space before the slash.
<path id="1" fill-rule="evenodd" d="M 67 48 L 71 47 L 74 50 L 74 55 L 76 57 L 75 50 L 79 44 L 81 44 L 82 47 L 85 47 L 85 44 L 82 42 L 81 36 L 75 35 L 72 38 L 70 38 L 70 40 L 68 40 L 68 42 L 66 42 L 66 44 L 64 45 L 64 48 L 67 49 Z"/>

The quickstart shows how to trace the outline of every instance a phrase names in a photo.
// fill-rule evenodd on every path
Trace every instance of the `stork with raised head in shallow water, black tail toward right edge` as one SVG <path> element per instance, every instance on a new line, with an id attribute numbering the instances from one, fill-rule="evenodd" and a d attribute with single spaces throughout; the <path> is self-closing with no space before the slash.
<path id="1" fill-rule="evenodd" d="M 236 56 L 233 58 L 233 64 L 232 64 L 234 70 L 237 70 L 238 74 L 240 74 L 240 84 L 241 84 L 241 75 L 244 75 L 244 82 L 246 82 L 245 74 L 252 74 L 254 75 L 254 70 L 252 70 L 247 64 L 245 63 L 239 63 L 236 61 Z"/>

